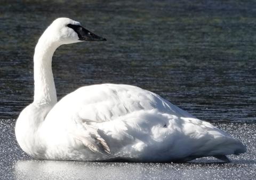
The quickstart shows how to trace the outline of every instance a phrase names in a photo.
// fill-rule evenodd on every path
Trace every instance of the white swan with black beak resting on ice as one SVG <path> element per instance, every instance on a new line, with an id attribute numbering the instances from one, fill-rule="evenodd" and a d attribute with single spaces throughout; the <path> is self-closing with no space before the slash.
<path id="1" fill-rule="evenodd" d="M 78 88 L 59 102 L 52 56 L 63 44 L 106 40 L 81 23 L 58 18 L 43 32 L 34 54 L 34 102 L 20 113 L 15 136 L 36 159 L 185 162 L 246 152 L 246 147 L 139 87 L 100 84 Z"/>

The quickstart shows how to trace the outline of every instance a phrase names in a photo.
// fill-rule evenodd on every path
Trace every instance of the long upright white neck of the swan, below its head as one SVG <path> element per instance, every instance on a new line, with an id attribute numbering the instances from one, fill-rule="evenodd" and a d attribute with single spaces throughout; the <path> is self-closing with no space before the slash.
<path id="1" fill-rule="evenodd" d="M 60 46 L 47 37 L 47 33 L 39 38 L 34 55 L 34 102 L 37 104 L 57 103 L 57 94 L 52 74 L 52 56 Z"/>

